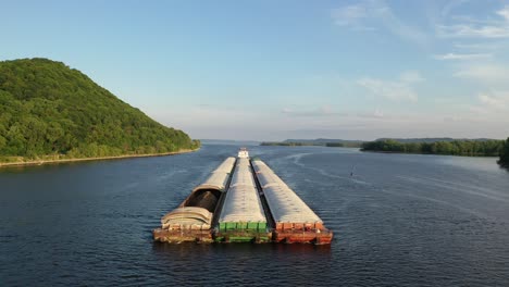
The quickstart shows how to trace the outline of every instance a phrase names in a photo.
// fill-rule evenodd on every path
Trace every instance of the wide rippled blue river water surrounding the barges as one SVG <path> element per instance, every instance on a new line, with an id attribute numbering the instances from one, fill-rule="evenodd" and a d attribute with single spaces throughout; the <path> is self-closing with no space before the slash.
<path id="1" fill-rule="evenodd" d="M 496 159 L 248 148 L 334 230 L 331 246 L 152 242 L 237 146 L 2 169 L 0 286 L 509 286 Z"/>

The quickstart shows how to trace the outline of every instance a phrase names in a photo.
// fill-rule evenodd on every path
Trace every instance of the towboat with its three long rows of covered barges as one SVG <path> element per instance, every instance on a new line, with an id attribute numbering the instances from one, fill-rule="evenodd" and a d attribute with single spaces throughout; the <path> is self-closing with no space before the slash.
<path id="1" fill-rule="evenodd" d="M 153 238 L 328 245 L 333 233 L 264 162 L 240 149 L 161 219 Z"/>

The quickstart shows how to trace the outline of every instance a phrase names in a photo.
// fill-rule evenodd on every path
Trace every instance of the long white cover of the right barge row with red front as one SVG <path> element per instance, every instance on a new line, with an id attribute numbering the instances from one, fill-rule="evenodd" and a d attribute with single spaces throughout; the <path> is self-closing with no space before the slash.
<path id="1" fill-rule="evenodd" d="M 252 166 L 262 186 L 274 221 L 287 223 L 322 223 L 322 220 L 264 162 Z"/>

